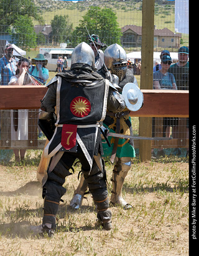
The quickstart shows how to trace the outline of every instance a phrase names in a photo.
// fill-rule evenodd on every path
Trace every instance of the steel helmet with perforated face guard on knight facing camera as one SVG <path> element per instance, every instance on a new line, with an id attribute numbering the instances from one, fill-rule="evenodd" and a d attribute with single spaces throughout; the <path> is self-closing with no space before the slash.
<path id="1" fill-rule="evenodd" d="M 126 51 L 119 44 L 111 44 L 104 51 L 104 64 L 112 74 L 119 77 L 119 81 L 122 81 L 127 71 Z"/>

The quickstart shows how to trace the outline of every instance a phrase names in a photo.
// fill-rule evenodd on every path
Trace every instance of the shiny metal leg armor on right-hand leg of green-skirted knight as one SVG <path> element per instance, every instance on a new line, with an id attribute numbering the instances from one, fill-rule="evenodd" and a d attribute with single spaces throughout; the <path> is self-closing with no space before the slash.
<path id="1" fill-rule="evenodd" d="M 127 204 L 127 202 L 123 199 L 122 196 L 124 179 L 130 169 L 130 157 L 116 158 L 116 164 L 114 165 L 113 169 L 113 177 L 111 179 L 113 184 L 113 190 L 111 191 L 111 203 L 113 205 L 120 205 L 124 209 L 129 209 L 132 207 L 130 204 Z"/>

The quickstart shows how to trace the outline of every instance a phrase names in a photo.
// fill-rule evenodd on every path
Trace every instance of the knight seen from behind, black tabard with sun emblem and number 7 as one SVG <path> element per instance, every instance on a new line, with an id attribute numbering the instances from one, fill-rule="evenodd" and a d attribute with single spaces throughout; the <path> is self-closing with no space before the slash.
<path id="1" fill-rule="evenodd" d="M 70 71 L 53 77 L 41 103 L 43 113 L 39 125 L 50 140 L 44 149 L 50 164 L 43 180 L 42 231 L 50 237 L 54 234 L 58 205 L 66 192 L 62 185 L 65 177 L 71 174 L 69 170 L 76 158 L 81 162 L 84 180 L 93 195 L 99 222 L 106 230 L 112 228 L 104 161 L 101 158 L 100 123 L 106 116 L 109 102 L 112 102 L 109 108 L 116 112 L 123 111 L 125 103 L 115 87 L 93 71 L 94 66 L 95 56 L 91 47 L 85 42 L 78 44 L 72 53 Z M 116 94 L 118 97 L 114 97 Z"/>

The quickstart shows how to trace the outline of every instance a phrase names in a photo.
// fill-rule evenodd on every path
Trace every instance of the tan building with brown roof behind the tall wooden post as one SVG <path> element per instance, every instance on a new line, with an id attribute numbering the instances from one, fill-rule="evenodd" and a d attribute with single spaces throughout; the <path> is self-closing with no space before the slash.
<path id="1" fill-rule="evenodd" d="M 142 27 L 136 25 L 126 25 L 121 28 L 123 36 L 121 42 L 123 47 L 141 47 Z M 154 26 L 154 48 L 179 48 L 182 34 L 174 33 L 165 27 L 156 29 Z"/>

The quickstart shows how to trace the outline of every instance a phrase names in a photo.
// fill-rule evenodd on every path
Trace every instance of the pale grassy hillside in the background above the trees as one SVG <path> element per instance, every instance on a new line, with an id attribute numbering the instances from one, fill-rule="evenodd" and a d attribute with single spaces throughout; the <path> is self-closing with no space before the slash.
<path id="1" fill-rule="evenodd" d="M 136 1 L 80 1 L 76 4 L 73 2 L 63 1 L 35 1 L 43 12 L 45 24 L 50 24 L 50 21 L 55 15 L 68 15 L 69 21 L 73 23 L 73 27 L 78 26 L 79 21 L 87 12 L 91 5 L 99 7 L 108 7 L 116 12 L 120 27 L 125 25 L 142 25 L 142 2 Z M 155 22 L 157 29 L 167 27 L 174 31 L 175 22 L 175 6 L 169 4 L 155 4 Z M 34 22 L 36 24 L 36 22 Z"/>

